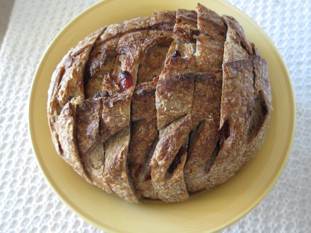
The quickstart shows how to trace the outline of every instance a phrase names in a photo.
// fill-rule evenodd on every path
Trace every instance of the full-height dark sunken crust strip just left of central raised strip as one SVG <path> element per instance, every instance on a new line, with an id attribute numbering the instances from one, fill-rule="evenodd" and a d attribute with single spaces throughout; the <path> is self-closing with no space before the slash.
<path id="1" fill-rule="evenodd" d="M 158 141 L 155 88 L 158 83 L 175 25 L 175 11 L 155 11 L 143 44 L 138 78 L 132 99 L 132 134 L 129 171 L 139 196 L 158 198 L 151 183 L 149 162 Z"/>

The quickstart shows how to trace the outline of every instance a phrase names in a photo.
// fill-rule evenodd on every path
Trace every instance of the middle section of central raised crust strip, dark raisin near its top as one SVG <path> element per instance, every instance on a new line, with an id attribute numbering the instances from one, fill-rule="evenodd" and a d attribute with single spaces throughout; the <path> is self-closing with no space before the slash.
<path id="1" fill-rule="evenodd" d="M 172 57 L 172 51 L 179 51 L 182 55 Z M 189 72 L 196 67 L 193 54 L 192 43 L 182 44 L 175 40 L 170 45 L 155 92 L 158 130 L 182 114 L 191 112 L 194 73 Z"/>

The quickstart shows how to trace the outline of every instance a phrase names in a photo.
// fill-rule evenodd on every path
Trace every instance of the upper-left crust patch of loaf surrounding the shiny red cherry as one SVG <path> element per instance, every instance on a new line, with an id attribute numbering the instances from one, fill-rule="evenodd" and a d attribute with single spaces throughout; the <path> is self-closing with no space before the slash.
<path id="1" fill-rule="evenodd" d="M 141 43 L 151 17 L 134 18 L 108 26 L 90 54 L 86 71 L 86 96 L 96 92 L 118 91 L 119 73 L 128 71 L 136 83 Z"/>

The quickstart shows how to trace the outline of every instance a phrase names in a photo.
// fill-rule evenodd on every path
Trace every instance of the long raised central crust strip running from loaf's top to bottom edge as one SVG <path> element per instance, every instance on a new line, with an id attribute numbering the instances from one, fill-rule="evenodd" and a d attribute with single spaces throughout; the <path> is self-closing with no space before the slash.
<path id="1" fill-rule="evenodd" d="M 165 202 L 189 198 L 183 170 L 192 126 L 194 73 L 187 71 L 196 68 L 196 33 L 196 12 L 177 10 L 175 40 L 170 44 L 155 92 L 160 135 L 150 164 L 153 188 Z"/>

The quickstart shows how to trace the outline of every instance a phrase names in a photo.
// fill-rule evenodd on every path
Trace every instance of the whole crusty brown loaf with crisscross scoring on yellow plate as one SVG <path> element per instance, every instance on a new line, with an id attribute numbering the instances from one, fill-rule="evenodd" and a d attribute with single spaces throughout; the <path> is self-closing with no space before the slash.
<path id="1" fill-rule="evenodd" d="M 57 153 L 126 201 L 185 201 L 247 165 L 271 118 L 266 61 L 241 25 L 197 5 L 108 25 L 52 75 Z"/>

